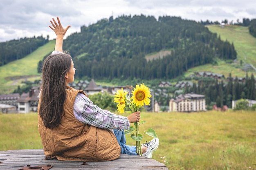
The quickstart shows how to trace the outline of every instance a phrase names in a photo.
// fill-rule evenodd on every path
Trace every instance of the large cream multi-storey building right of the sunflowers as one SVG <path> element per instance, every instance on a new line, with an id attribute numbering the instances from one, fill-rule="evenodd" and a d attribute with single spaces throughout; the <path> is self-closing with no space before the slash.
<path id="1" fill-rule="evenodd" d="M 169 102 L 170 112 L 205 111 L 205 96 L 194 93 L 181 94 Z"/>

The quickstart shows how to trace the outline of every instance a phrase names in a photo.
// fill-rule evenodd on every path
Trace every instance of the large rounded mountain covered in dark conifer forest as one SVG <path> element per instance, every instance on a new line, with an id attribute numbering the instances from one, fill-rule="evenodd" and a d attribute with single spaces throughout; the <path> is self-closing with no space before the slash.
<path id="1" fill-rule="evenodd" d="M 173 79 L 187 69 L 213 62 L 214 57 L 236 59 L 234 45 L 191 20 L 135 15 L 103 19 L 81 26 L 64 41 L 76 67 L 76 78 Z M 145 56 L 171 51 L 162 59 Z"/>

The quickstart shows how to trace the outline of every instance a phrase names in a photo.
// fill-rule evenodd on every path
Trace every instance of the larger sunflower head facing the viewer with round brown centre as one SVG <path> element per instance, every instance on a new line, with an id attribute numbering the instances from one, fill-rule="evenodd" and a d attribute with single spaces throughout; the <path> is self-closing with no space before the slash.
<path id="1" fill-rule="evenodd" d="M 145 105 L 150 105 L 150 99 L 149 97 L 152 97 L 150 95 L 150 90 L 149 88 L 143 84 L 136 84 L 136 87 L 132 91 L 132 97 L 131 100 L 135 104 L 135 106 L 144 106 Z"/>

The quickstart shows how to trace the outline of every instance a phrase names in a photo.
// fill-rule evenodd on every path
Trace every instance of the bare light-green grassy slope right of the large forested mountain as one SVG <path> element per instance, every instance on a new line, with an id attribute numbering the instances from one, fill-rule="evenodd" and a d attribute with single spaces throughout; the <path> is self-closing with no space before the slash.
<path id="1" fill-rule="evenodd" d="M 198 71 L 211 71 L 223 74 L 225 77 L 228 77 L 229 73 L 231 73 L 232 77 L 245 77 L 246 72 L 241 69 L 240 60 L 243 60 L 243 63 L 253 64 L 254 67 L 256 66 L 256 38 L 249 34 L 248 27 L 235 25 L 228 25 L 223 28 L 218 25 L 208 25 L 206 27 L 209 31 L 217 33 L 223 41 L 227 40 L 230 43 L 234 43 L 238 62 L 228 64 L 223 60 L 217 60 L 218 65 L 213 66 L 212 64 L 205 64 L 203 66 L 194 67 L 189 69 L 185 76 L 187 77 Z M 249 71 L 248 75 L 252 73 L 255 75 L 255 71 Z"/>

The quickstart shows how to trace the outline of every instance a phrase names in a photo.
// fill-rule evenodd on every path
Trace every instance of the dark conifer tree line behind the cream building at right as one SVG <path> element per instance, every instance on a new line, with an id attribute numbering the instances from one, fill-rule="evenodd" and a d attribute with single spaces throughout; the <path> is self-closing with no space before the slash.
<path id="1" fill-rule="evenodd" d="M 185 93 L 197 93 L 205 95 L 207 106 L 216 104 L 218 107 L 232 106 L 232 100 L 256 99 L 255 78 L 246 74 L 244 82 L 238 81 L 238 77 L 233 79 L 231 73 L 227 82 L 218 79 L 201 79 L 198 84 L 193 83 L 192 87 L 186 87 Z M 216 101 L 216 102 L 215 102 Z"/>

